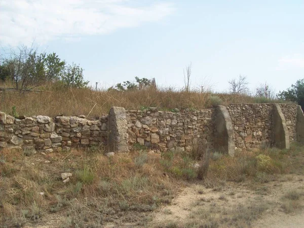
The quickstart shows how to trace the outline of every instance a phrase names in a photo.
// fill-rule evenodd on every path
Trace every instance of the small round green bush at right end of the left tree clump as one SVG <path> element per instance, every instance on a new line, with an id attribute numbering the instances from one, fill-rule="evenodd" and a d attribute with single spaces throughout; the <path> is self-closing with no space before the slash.
<path id="1" fill-rule="evenodd" d="M 89 81 L 84 81 L 83 68 L 75 63 L 64 67 L 60 75 L 60 81 L 63 86 L 68 88 L 84 88 L 89 83 Z"/>

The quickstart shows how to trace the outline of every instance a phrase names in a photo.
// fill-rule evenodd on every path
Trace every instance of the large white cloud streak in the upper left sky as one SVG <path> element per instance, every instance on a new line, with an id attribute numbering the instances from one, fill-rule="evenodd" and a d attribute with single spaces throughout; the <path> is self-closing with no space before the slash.
<path id="1" fill-rule="evenodd" d="M 0 45 L 79 40 L 159 21 L 173 11 L 165 1 L 143 6 L 132 0 L 2 0 Z"/>

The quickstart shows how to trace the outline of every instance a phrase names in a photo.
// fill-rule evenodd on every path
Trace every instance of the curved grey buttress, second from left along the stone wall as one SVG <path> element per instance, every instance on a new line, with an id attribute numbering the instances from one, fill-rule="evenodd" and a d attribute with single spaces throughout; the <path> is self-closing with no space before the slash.
<path id="1" fill-rule="evenodd" d="M 224 154 L 234 156 L 235 135 L 229 112 L 225 106 L 216 107 L 214 149 Z"/>

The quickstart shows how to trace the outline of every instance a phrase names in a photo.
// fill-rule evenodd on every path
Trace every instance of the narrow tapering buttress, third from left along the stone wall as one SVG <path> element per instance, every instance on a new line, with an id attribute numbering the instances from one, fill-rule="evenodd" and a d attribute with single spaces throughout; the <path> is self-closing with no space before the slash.
<path id="1" fill-rule="evenodd" d="M 289 133 L 279 104 L 273 109 L 273 142 L 280 149 L 289 149 Z"/>

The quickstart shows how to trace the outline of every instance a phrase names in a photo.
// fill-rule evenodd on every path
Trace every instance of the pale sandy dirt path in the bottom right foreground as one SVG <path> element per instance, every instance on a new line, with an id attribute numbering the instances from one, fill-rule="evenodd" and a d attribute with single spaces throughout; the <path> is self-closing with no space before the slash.
<path id="1" fill-rule="evenodd" d="M 171 205 L 160 208 L 150 226 L 304 227 L 303 197 L 284 198 L 291 191 L 304 194 L 303 177 L 285 175 L 259 186 L 226 183 L 213 189 L 194 184 L 184 188 Z"/>

